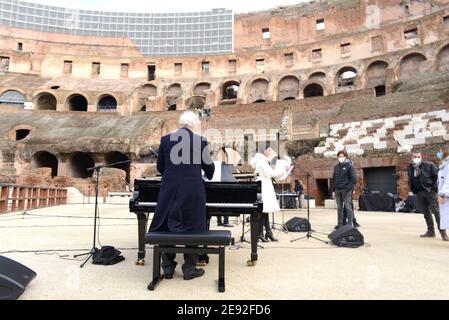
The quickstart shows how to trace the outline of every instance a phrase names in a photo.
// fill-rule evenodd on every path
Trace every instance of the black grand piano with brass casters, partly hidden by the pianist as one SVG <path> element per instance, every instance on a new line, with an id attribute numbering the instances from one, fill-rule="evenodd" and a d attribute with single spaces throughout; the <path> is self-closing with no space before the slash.
<path id="1" fill-rule="evenodd" d="M 260 197 L 261 183 L 257 182 L 212 182 L 205 181 L 207 218 L 212 216 L 250 215 L 251 223 L 251 259 L 249 266 L 257 261 L 257 240 L 262 201 Z M 145 233 L 148 229 L 148 216 L 154 212 L 161 181 L 156 179 L 136 179 L 134 194 L 129 202 L 130 212 L 134 212 L 138 220 L 139 251 L 138 265 L 145 264 Z"/>

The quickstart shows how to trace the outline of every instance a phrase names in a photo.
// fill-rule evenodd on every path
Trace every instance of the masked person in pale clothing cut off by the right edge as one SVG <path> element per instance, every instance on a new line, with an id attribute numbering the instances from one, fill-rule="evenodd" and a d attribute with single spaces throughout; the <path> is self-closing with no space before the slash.
<path id="1" fill-rule="evenodd" d="M 449 229 L 449 148 L 438 151 L 441 160 L 438 172 L 438 203 L 440 205 L 440 229 Z"/>

